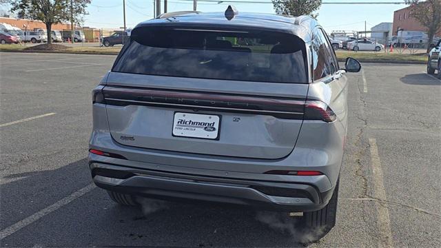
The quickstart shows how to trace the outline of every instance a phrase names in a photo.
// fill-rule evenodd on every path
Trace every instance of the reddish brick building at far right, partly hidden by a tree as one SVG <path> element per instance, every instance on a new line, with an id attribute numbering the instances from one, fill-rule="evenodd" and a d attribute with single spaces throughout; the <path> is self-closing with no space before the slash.
<path id="1" fill-rule="evenodd" d="M 393 12 L 393 35 L 397 35 L 399 29 L 405 31 L 422 31 L 427 32 L 427 28 L 424 28 L 419 21 L 411 17 L 411 7 L 402 8 Z M 435 34 L 435 37 L 441 37 L 441 30 Z"/>

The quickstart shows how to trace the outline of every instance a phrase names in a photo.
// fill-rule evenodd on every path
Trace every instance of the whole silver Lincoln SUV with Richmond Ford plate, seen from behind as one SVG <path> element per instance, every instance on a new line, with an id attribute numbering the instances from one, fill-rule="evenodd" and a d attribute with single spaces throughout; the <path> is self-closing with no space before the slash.
<path id="1" fill-rule="evenodd" d="M 311 17 L 229 7 L 139 23 L 93 90 L 94 183 L 122 205 L 232 203 L 293 223 L 301 212 L 321 237 L 336 222 L 345 72 L 360 68 L 349 58 L 340 70 Z"/>

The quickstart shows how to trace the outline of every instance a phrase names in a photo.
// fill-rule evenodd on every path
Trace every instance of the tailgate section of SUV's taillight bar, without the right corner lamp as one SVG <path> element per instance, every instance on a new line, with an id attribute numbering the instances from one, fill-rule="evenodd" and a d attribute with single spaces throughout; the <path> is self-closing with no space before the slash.
<path id="1" fill-rule="evenodd" d="M 208 92 L 106 86 L 103 88 L 103 95 L 107 104 L 114 105 L 159 105 L 227 112 L 252 112 L 300 119 L 305 108 L 305 100 L 302 99 Z"/>

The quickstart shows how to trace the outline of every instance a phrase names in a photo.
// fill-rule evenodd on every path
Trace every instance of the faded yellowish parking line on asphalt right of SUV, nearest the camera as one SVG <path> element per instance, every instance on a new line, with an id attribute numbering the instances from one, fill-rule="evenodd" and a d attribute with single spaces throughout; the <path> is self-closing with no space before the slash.
<path id="1" fill-rule="evenodd" d="M 383 171 L 380 163 L 380 156 L 378 155 L 378 146 L 375 138 L 369 138 L 369 145 L 371 150 L 371 164 L 373 172 L 373 195 L 374 198 L 379 200 L 386 200 L 386 190 L 384 189 Z M 376 203 L 376 209 L 378 212 L 378 231 L 382 247 L 392 247 L 392 231 L 391 231 L 391 219 L 389 217 L 389 209 L 382 205 L 382 203 Z"/>

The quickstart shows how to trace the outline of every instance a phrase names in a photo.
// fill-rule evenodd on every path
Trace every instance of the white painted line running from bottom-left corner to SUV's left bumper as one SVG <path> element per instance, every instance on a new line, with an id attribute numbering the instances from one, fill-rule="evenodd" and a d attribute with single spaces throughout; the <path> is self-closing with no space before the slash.
<path id="1" fill-rule="evenodd" d="M 13 225 L 10 225 L 9 227 L 6 227 L 5 229 L 0 231 L 0 240 L 3 238 L 6 238 L 10 236 L 11 234 L 14 234 L 14 232 L 19 231 L 23 227 L 26 227 L 35 221 L 39 220 L 40 218 L 43 218 L 43 216 L 46 216 L 52 211 L 55 211 L 59 209 L 60 207 L 63 207 L 64 205 L 68 205 L 76 198 L 79 198 L 83 196 L 83 194 L 86 194 L 90 192 L 92 189 L 94 189 L 96 186 L 91 183 L 90 185 L 87 185 L 86 187 L 83 187 L 82 189 L 79 189 L 77 192 L 74 192 L 70 196 L 66 196 L 65 198 L 57 201 L 57 203 L 54 203 L 50 205 L 49 207 L 46 207 L 45 209 L 41 209 L 40 211 L 37 211 L 37 213 L 32 214 L 31 216 L 28 216 L 24 218 L 23 220 L 20 220 L 18 223 L 15 223 Z"/>

